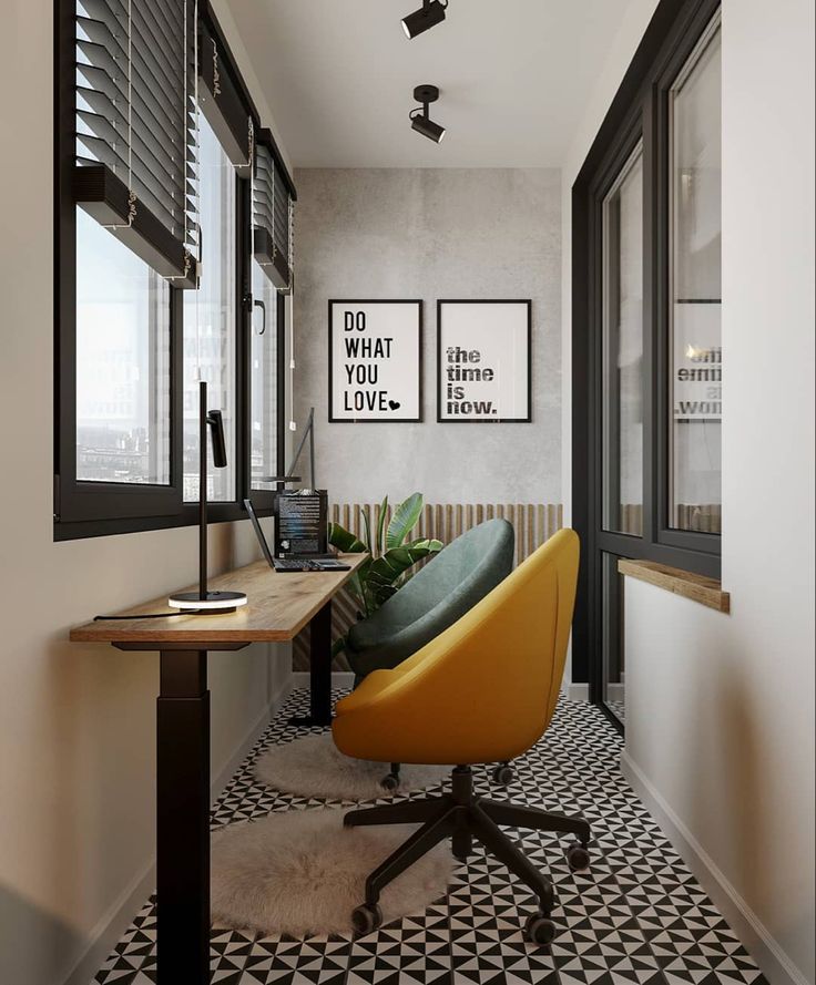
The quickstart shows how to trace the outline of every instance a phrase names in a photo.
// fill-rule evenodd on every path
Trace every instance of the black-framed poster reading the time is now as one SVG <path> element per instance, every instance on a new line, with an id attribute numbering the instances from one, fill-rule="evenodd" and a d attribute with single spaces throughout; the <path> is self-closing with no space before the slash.
<path id="1" fill-rule="evenodd" d="M 532 301 L 437 301 L 437 421 L 528 423 Z"/>

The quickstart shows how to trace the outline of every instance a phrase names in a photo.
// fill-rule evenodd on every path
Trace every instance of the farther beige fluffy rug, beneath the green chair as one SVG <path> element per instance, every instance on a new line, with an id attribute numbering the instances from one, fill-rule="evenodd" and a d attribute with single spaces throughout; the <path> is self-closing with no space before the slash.
<path id="1" fill-rule="evenodd" d="M 389 770 L 388 763 L 344 756 L 330 732 L 273 746 L 255 763 L 255 776 L 267 787 L 325 800 L 361 801 L 392 797 L 394 792 L 435 786 L 450 774 L 450 767 L 446 766 L 404 766 L 399 790 L 390 792 L 380 787 Z"/>

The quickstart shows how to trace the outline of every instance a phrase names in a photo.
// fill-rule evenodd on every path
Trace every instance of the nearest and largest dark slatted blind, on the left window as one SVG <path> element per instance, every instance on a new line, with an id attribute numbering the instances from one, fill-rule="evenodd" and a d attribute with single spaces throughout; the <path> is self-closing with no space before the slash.
<path id="1" fill-rule="evenodd" d="M 195 286 L 195 2 L 78 0 L 74 198 Z"/>

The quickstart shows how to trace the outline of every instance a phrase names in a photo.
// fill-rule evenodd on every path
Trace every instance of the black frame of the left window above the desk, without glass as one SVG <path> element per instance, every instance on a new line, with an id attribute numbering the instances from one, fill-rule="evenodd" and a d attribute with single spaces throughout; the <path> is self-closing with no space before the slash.
<path id="1" fill-rule="evenodd" d="M 170 293 L 170 482 L 167 485 L 76 480 L 76 201 L 73 186 L 75 138 L 75 3 L 54 0 L 54 510 L 55 541 L 192 526 L 198 522 L 197 502 L 183 501 L 183 296 L 169 281 Z M 220 58 L 239 86 L 254 129 L 257 111 L 243 85 L 230 48 L 212 8 L 200 4 L 200 18 L 217 40 Z M 277 147 L 275 147 L 277 152 Z M 279 157 L 279 154 L 278 154 Z M 287 187 L 296 197 L 282 161 Z M 211 503 L 212 523 L 246 519 L 243 500 L 252 496 L 261 516 L 272 515 L 274 490 L 252 488 L 251 475 L 251 355 L 253 331 L 252 259 L 253 211 L 251 168 L 236 170 L 235 277 L 235 499 Z M 276 471 L 285 471 L 286 299 L 276 295 L 277 428 Z M 280 486 L 278 485 L 278 489 Z"/>

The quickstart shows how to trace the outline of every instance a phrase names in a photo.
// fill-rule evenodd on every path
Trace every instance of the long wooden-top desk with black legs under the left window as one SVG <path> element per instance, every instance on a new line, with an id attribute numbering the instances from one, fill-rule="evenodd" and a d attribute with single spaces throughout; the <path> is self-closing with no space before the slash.
<path id="1" fill-rule="evenodd" d="M 212 578 L 213 589 L 239 589 L 247 605 L 226 615 L 140 619 L 163 613 L 167 596 L 126 609 L 133 618 L 85 623 L 76 643 L 110 643 L 121 650 L 159 650 L 156 706 L 156 892 L 159 985 L 210 982 L 210 691 L 207 651 L 293 639 L 312 625 L 312 715 L 332 720 L 332 597 L 350 571 L 280 574 L 265 561 Z M 197 586 L 193 586 L 194 591 Z"/>

